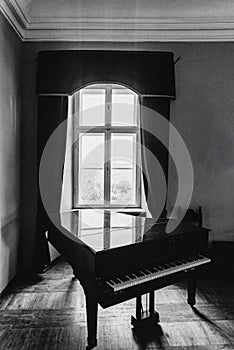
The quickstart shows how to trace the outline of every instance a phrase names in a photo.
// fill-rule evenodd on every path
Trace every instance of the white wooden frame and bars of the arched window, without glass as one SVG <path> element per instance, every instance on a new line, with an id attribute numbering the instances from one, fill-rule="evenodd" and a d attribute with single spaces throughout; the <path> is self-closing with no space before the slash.
<path id="1" fill-rule="evenodd" d="M 116 84 L 94 84 L 91 86 L 88 86 L 86 88 L 86 91 L 90 90 L 97 90 L 97 89 L 105 89 L 105 97 L 106 97 L 106 104 L 105 104 L 105 125 L 103 126 L 81 126 L 79 125 L 79 117 L 74 118 L 74 139 L 77 139 L 77 134 L 78 133 L 104 133 L 105 135 L 105 141 L 111 140 L 111 134 L 116 133 L 116 134 L 124 134 L 124 133 L 129 133 L 129 134 L 135 134 L 136 135 L 136 147 L 135 147 L 135 152 L 136 152 L 136 164 L 140 164 L 140 149 L 139 149 L 139 144 L 140 144 L 140 124 L 139 124 L 139 102 L 138 102 L 138 95 L 135 94 L 135 106 L 137 106 L 135 110 L 135 121 L 136 125 L 111 125 L 111 90 L 112 89 L 126 89 L 125 94 L 129 91 L 129 93 L 133 93 L 133 91 L 125 88 L 124 86 L 121 85 L 116 85 Z M 84 90 L 82 91 L 84 93 Z M 78 92 L 79 97 L 79 105 L 80 105 L 80 95 L 81 92 Z M 78 110 L 80 109 L 80 106 L 78 106 Z M 79 111 L 80 113 L 80 111 Z M 82 112 L 81 112 L 82 113 Z M 136 166 L 136 188 L 135 188 L 135 204 L 133 205 L 124 205 L 124 204 L 119 204 L 119 205 L 113 205 L 111 204 L 110 201 L 110 194 L 111 194 L 111 189 L 110 189 L 110 180 L 111 180 L 111 164 L 108 159 L 110 159 L 110 154 L 111 154 L 111 147 L 108 147 L 108 145 L 111 145 L 111 143 L 105 142 L 105 165 L 104 165 L 104 204 L 79 204 L 79 186 L 78 186 L 78 179 L 79 179 L 79 145 L 78 142 L 74 144 L 73 147 L 73 209 L 79 209 L 79 208 L 90 208 L 90 207 L 95 207 L 95 208 L 103 208 L 103 209 L 119 209 L 123 207 L 127 208 L 140 208 L 141 207 L 141 171 L 139 166 Z"/>

